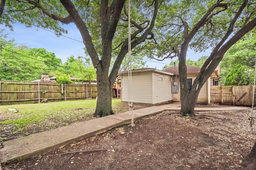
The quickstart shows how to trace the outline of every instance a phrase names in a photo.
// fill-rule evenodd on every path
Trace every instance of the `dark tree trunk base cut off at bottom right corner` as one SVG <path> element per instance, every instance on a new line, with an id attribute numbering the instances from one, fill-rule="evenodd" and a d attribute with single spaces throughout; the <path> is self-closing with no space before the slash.
<path id="1" fill-rule="evenodd" d="M 256 143 L 254 143 L 254 146 L 249 154 L 244 157 L 242 164 L 243 166 L 246 166 L 246 168 L 244 168 L 245 170 L 256 169 Z"/>

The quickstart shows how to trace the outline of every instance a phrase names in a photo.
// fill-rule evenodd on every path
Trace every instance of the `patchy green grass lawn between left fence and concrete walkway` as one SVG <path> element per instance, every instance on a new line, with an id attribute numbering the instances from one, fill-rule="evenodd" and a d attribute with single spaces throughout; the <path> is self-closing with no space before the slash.
<path id="1" fill-rule="evenodd" d="M 126 111 L 124 102 L 112 100 L 115 113 Z M 9 111 L 17 109 L 18 112 Z M 14 139 L 93 119 L 96 100 L 70 100 L 0 106 L 0 141 Z"/>

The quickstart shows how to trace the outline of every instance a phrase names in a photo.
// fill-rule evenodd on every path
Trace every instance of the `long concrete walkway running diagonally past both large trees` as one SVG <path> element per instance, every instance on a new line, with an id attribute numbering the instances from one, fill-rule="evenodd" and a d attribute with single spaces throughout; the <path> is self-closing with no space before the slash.
<path id="1" fill-rule="evenodd" d="M 224 111 L 248 108 L 236 106 L 206 107 L 195 108 L 195 111 Z M 164 110 L 179 111 L 180 102 L 134 110 L 134 120 L 149 117 L 161 113 Z M 74 141 L 106 132 L 114 127 L 130 123 L 130 121 L 131 116 L 129 112 L 124 112 L 6 141 L 3 143 L 3 148 L 0 149 L 1 164 L 18 162 L 40 153 L 68 145 Z"/>

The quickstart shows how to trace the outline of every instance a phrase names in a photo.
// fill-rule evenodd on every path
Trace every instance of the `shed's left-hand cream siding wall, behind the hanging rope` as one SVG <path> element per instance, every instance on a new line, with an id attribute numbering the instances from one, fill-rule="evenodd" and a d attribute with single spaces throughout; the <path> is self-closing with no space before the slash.
<path id="1" fill-rule="evenodd" d="M 152 72 L 132 73 L 132 102 L 152 104 Z M 121 99 L 128 102 L 128 74 L 122 75 Z"/>

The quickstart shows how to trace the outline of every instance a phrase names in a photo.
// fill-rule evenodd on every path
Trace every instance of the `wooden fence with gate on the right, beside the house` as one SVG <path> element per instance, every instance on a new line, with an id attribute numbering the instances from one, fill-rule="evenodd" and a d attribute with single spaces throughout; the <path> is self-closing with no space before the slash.
<path id="1" fill-rule="evenodd" d="M 252 106 L 253 86 L 211 86 L 210 88 L 212 103 Z M 255 102 L 254 98 L 254 106 L 256 106 Z"/>

